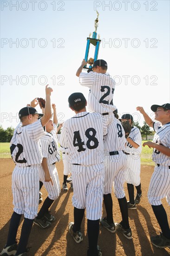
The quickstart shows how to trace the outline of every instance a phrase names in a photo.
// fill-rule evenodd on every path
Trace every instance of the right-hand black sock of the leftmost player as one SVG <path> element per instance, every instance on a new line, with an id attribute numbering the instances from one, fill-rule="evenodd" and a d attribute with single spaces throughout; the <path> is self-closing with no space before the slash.
<path id="1" fill-rule="evenodd" d="M 22 224 L 22 229 L 20 234 L 20 242 L 18 244 L 16 255 L 20 255 L 21 253 L 26 252 L 26 245 L 28 243 L 32 226 L 33 226 L 33 220 L 24 218 L 24 222 Z"/>

